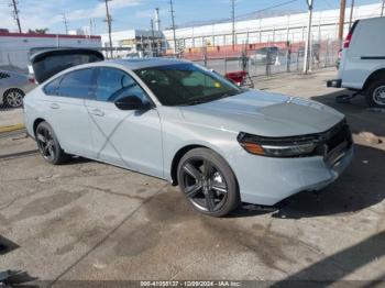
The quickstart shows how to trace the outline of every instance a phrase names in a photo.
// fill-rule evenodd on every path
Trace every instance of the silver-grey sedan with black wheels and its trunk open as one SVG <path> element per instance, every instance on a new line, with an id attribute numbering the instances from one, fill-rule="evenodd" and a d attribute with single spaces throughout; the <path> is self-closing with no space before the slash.
<path id="1" fill-rule="evenodd" d="M 85 54 L 33 59 L 42 84 L 25 98 L 25 126 L 48 163 L 81 155 L 152 175 L 221 217 L 319 190 L 353 157 L 344 115 L 318 102 L 243 90 L 190 62 Z M 57 57 L 77 66 L 50 70 Z"/>

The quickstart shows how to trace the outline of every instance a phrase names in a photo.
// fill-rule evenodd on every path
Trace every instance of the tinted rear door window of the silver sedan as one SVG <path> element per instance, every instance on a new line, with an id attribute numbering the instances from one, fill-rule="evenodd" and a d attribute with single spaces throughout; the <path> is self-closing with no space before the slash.
<path id="1" fill-rule="evenodd" d="M 81 69 L 63 76 L 58 95 L 73 98 L 88 98 L 92 87 L 94 69 Z"/>

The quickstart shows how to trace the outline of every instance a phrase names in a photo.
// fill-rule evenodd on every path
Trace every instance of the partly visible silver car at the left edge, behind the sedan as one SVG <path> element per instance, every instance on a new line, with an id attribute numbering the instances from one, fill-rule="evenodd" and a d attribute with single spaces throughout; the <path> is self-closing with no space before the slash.
<path id="1" fill-rule="evenodd" d="M 23 104 L 26 92 L 35 87 L 28 75 L 0 70 L 0 106 L 18 108 Z"/>

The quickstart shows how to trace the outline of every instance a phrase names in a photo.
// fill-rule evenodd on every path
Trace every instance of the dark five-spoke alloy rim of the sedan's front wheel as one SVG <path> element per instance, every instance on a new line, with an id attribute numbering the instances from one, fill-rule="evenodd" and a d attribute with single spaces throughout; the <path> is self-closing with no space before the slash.
<path id="1" fill-rule="evenodd" d="M 198 209 L 215 212 L 228 198 L 223 174 L 209 160 L 190 158 L 182 166 L 184 192 Z"/>

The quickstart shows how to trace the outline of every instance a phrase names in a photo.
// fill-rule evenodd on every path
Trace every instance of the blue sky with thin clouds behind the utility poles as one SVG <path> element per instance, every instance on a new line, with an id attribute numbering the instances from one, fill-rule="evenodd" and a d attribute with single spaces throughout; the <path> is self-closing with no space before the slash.
<path id="1" fill-rule="evenodd" d="M 237 15 L 262 10 L 289 0 L 237 0 Z M 0 27 L 15 30 L 10 0 L 0 0 Z M 316 10 L 339 7 L 340 0 L 314 0 Z M 350 0 L 346 0 L 350 5 Z M 381 0 L 355 0 L 356 5 L 376 3 Z M 113 18 L 113 31 L 150 29 L 154 8 L 160 8 L 162 26 L 170 25 L 169 0 L 112 0 L 109 2 Z M 280 7 L 282 11 L 306 10 L 306 0 L 296 0 Z M 94 19 L 95 33 L 106 32 L 105 5 L 100 0 L 19 0 L 23 30 L 48 27 L 52 33 L 63 33 L 62 13 L 66 13 L 70 30 L 89 25 Z M 176 24 L 230 18 L 230 0 L 174 0 Z M 274 9 L 274 10 L 277 10 Z"/>

